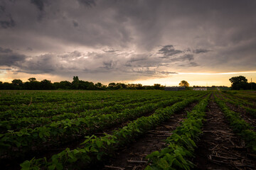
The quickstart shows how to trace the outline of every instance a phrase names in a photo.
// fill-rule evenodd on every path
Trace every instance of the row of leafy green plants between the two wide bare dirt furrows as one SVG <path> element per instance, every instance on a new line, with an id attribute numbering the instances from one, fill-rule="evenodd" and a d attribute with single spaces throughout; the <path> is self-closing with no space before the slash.
<path id="1" fill-rule="evenodd" d="M 194 167 L 190 159 L 193 157 L 196 141 L 202 133 L 201 128 L 209 96 L 210 94 L 200 101 L 187 114 L 181 126 L 174 130 L 173 135 L 165 140 L 167 147 L 146 156 L 150 165 L 146 166 L 145 170 L 191 169 Z"/>

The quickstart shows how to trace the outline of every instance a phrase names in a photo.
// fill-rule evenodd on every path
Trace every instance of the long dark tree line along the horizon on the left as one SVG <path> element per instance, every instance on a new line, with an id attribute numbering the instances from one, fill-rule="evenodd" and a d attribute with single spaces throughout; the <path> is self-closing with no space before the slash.
<path id="1" fill-rule="evenodd" d="M 137 89 L 137 90 L 164 90 L 161 84 L 154 86 L 142 86 L 142 84 L 123 84 L 110 83 L 107 85 L 100 82 L 94 84 L 91 81 L 82 81 L 77 76 L 73 77 L 73 81 L 60 81 L 52 83 L 50 80 L 43 79 L 37 81 L 31 77 L 28 81 L 23 82 L 21 79 L 14 79 L 11 83 L 0 81 L 0 89 L 4 90 L 56 90 L 56 89 L 76 89 L 76 90 L 118 90 L 118 89 Z"/>

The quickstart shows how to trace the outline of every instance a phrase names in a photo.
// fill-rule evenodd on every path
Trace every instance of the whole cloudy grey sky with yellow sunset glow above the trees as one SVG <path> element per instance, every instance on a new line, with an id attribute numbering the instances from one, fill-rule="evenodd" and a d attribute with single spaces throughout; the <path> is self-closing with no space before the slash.
<path id="1" fill-rule="evenodd" d="M 256 80 L 254 0 L 1 0 L 0 81 Z"/>

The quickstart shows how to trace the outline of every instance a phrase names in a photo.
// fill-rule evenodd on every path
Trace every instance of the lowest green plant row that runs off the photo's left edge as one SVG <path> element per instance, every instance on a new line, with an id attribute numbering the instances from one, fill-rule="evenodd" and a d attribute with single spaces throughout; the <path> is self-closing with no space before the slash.
<path id="1" fill-rule="evenodd" d="M 146 104 L 133 109 L 125 109 L 121 113 L 111 113 L 74 120 L 60 120 L 35 129 L 24 128 L 18 132 L 9 132 L 0 135 L 1 154 L 22 154 L 35 147 L 41 148 L 43 145 L 59 145 L 62 142 L 75 140 L 74 137 L 97 132 L 113 125 L 124 123 L 127 120 L 138 118 L 146 113 L 152 113 L 157 108 L 169 106 L 181 98 L 173 98 L 167 101 L 160 101 L 155 104 Z M 17 149 L 20 150 L 17 152 Z"/>

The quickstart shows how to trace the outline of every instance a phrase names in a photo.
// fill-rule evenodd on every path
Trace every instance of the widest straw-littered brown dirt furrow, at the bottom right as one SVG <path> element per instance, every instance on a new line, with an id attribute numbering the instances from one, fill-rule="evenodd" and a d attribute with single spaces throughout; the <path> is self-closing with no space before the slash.
<path id="1" fill-rule="evenodd" d="M 256 169 L 255 159 L 245 148 L 245 142 L 233 133 L 223 113 L 211 98 L 203 125 L 203 135 L 197 143 L 195 169 Z"/>

